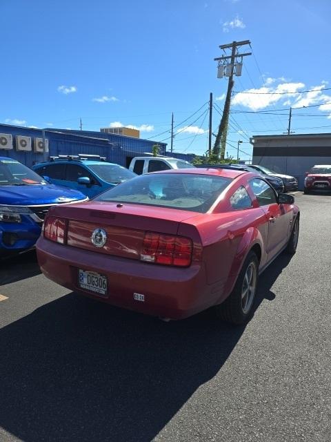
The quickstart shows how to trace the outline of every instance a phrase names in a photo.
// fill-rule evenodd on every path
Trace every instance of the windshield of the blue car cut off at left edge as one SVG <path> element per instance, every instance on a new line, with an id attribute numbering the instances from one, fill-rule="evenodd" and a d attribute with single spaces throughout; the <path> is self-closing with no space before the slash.
<path id="1" fill-rule="evenodd" d="M 47 184 L 37 173 L 18 161 L 0 160 L 0 186 Z"/>

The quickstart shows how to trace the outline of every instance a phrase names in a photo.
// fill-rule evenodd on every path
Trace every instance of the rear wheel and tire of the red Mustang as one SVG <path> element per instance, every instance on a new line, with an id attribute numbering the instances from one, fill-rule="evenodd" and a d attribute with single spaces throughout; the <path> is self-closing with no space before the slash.
<path id="1" fill-rule="evenodd" d="M 217 317 L 234 325 L 246 323 L 252 314 L 258 278 L 259 260 L 256 253 L 250 251 L 230 296 L 214 307 Z"/>

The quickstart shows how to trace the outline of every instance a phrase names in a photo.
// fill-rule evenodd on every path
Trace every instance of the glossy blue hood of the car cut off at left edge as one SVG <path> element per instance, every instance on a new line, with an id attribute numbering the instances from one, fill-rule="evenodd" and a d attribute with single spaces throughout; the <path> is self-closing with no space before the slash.
<path id="1" fill-rule="evenodd" d="M 85 200 L 86 195 L 54 184 L 0 186 L 0 204 L 30 206 Z"/>

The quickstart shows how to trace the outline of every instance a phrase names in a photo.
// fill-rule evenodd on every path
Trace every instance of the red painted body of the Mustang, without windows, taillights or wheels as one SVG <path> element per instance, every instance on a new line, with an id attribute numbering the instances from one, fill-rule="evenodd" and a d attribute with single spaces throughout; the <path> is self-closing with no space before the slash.
<path id="1" fill-rule="evenodd" d="M 225 169 L 159 173 L 220 175 L 232 182 L 207 213 L 97 201 L 54 206 L 48 216 L 65 220 L 67 244 L 39 238 L 37 256 L 43 273 L 72 291 L 103 302 L 179 319 L 223 302 L 251 249 L 257 252 L 261 272 L 287 244 L 299 209 L 294 204 L 259 206 L 249 181 L 260 175 Z M 230 197 L 240 186 L 252 199 L 250 209 L 232 209 Z M 107 234 L 106 244 L 100 248 L 91 242 L 92 232 L 98 228 Z M 143 238 L 150 231 L 190 238 L 191 264 L 172 267 L 142 262 Z M 79 288 L 78 269 L 105 275 L 107 296 Z M 143 302 L 136 294 L 143 295 Z"/>

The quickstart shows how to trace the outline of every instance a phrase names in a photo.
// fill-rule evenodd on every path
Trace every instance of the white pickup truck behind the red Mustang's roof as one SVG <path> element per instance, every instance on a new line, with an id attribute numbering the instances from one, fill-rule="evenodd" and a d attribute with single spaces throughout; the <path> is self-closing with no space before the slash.
<path id="1" fill-rule="evenodd" d="M 193 164 L 188 161 L 172 157 L 134 157 L 129 170 L 142 175 L 148 172 L 166 171 L 168 169 L 192 169 Z"/>

